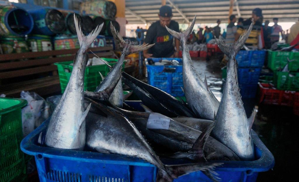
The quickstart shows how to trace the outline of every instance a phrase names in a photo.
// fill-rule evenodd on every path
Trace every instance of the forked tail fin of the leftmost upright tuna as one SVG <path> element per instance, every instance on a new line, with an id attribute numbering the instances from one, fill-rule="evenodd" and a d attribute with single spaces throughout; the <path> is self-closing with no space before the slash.
<path id="1" fill-rule="evenodd" d="M 83 50 L 83 52 L 85 52 L 89 48 L 91 43 L 94 41 L 94 39 L 97 38 L 104 24 L 102 23 L 101 25 L 98 25 L 94 30 L 91 31 L 91 33 L 89 33 L 88 36 L 85 36 L 81 30 L 80 22 L 78 22 L 75 13 L 74 13 L 74 22 L 77 31 L 77 36 L 80 43 L 80 48 Z"/>

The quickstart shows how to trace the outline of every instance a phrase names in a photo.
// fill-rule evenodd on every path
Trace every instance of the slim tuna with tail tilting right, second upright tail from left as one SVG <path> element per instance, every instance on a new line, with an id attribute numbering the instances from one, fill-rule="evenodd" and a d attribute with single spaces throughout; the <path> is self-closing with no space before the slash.
<path id="1" fill-rule="evenodd" d="M 122 92 L 120 77 L 121 77 L 121 68 L 125 56 L 148 49 L 152 47 L 154 44 L 129 45 L 123 40 L 120 34 L 115 30 L 115 27 L 112 25 L 112 23 L 110 23 L 110 27 L 111 27 L 111 32 L 113 34 L 114 40 L 117 42 L 122 54 L 118 59 L 118 62 L 114 65 L 113 68 L 109 64 L 107 64 L 106 61 L 101 59 L 107 66 L 112 68 L 112 70 L 105 77 L 105 79 L 103 79 L 103 81 L 100 83 L 100 85 L 96 88 L 94 92 L 86 91 L 85 96 L 96 100 L 108 101 L 111 97 L 111 94 L 116 88 L 116 91 L 114 92 L 112 99 L 110 99 L 110 101 L 112 102 L 112 104 L 117 104 L 120 106 L 122 105 L 122 100 L 123 100 L 123 92 Z"/>

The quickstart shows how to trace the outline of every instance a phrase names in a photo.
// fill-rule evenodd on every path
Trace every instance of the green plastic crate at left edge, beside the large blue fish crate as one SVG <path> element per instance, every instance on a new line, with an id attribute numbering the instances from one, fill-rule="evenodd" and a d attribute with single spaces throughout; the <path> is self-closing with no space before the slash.
<path id="1" fill-rule="evenodd" d="M 26 175 L 24 153 L 20 149 L 21 109 L 26 105 L 23 99 L 0 97 L 0 182 L 18 181 L 19 176 Z"/>

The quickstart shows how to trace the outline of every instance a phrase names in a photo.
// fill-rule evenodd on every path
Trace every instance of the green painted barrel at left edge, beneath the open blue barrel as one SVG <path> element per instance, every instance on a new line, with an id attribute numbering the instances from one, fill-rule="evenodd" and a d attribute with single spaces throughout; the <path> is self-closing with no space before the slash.
<path id="1" fill-rule="evenodd" d="M 0 38 L 1 49 L 4 54 L 29 52 L 24 37 L 6 36 Z"/>

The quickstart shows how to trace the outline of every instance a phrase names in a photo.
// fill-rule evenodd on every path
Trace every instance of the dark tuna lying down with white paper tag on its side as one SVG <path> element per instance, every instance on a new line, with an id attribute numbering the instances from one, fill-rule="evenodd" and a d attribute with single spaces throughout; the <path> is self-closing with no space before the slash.
<path id="1" fill-rule="evenodd" d="M 139 130 L 144 131 L 145 129 L 148 129 L 155 133 L 172 138 L 175 141 L 181 141 L 193 145 L 200 134 L 202 134 L 202 131 L 198 131 L 159 113 L 127 111 L 120 108 L 116 109 L 128 117 L 136 126 L 143 127 L 138 127 Z M 152 124 L 152 122 L 158 124 Z M 184 144 L 176 146 L 176 148 L 179 147 L 188 150 L 190 149 L 188 148 L 190 146 Z M 237 157 L 231 149 L 227 148 L 213 137 L 207 138 L 204 150 L 206 155 L 213 153 L 213 159 L 239 160 L 239 157 Z"/>

